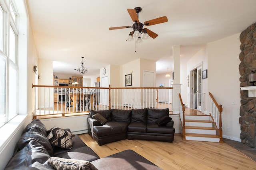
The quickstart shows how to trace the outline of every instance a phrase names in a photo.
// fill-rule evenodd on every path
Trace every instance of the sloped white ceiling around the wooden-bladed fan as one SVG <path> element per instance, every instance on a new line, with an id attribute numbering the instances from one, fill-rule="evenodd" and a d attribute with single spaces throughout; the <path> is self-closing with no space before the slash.
<path id="1" fill-rule="evenodd" d="M 172 70 L 172 45 L 187 61 L 208 42 L 256 22 L 256 0 L 26 0 L 38 57 L 54 61 L 54 72 L 74 74 L 81 57 L 84 78 L 100 68 L 138 58 L 157 62 L 157 74 Z M 168 22 L 144 26 L 158 34 L 142 44 L 128 42 L 132 26 L 127 8 L 141 7 L 140 22 L 167 16 Z"/>

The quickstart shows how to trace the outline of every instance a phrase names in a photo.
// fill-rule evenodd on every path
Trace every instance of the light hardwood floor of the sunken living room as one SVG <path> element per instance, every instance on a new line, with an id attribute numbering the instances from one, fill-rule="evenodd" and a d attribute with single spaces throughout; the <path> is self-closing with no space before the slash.
<path id="1" fill-rule="evenodd" d="M 182 141 L 175 134 L 173 143 L 126 139 L 99 146 L 88 133 L 79 136 L 100 158 L 132 149 L 164 170 L 256 170 L 256 162 L 227 143 Z"/>

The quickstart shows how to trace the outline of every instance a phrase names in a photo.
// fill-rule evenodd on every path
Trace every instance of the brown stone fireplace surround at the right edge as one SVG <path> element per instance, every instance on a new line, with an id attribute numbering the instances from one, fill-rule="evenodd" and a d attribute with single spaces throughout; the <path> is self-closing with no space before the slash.
<path id="1" fill-rule="evenodd" d="M 256 71 L 256 23 L 247 27 L 240 34 L 239 65 L 240 87 L 253 86 L 248 81 L 248 74 L 251 70 Z M 248 97 L 248 90 L 240 91 L 241 106 L 239 123 L 241 125 L 240 139 L 249 147 L 256 147 L 256 98 Z"/>

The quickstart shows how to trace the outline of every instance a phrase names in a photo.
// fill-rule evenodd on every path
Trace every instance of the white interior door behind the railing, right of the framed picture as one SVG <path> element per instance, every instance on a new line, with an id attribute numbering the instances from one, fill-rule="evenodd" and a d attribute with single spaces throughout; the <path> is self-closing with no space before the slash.
<path id="1" fill-rule="evenodd" d="M 151 71 L 143 71 L 143 87 L 154 87 L 154 72 Z M 155 90 L 145 89 L 144 92 L 144 107 L 155 107 L 156 98 L 155 98 Z"/>

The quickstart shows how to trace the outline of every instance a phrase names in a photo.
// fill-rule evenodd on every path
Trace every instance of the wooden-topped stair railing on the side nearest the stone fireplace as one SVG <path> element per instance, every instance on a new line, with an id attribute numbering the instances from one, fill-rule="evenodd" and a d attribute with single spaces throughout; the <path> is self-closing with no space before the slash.
<path id="1" fill-rule="evenodd" d="M 218 133 L 220 136 L 220 142 L 222 141 L 222 118 L 221 118 L 221 114 L 222 114 L 222 105 L 218 105 L 218 103 L 216 102 L 216 100 L 214 99 L 214 97 L 212 96 L 212 94 L 209 92 L 209 95 L 211 97 L 211 116 L 213 121 L 216 124 L 216 127 L 218 129 Z"/>

